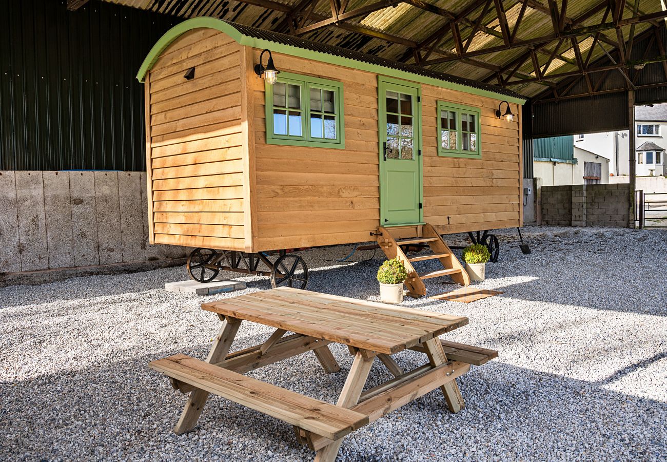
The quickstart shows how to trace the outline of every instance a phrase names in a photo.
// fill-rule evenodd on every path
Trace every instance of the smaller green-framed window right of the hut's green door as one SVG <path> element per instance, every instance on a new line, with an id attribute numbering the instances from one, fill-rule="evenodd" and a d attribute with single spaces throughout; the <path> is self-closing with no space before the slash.
<path id="1" fill-rule="evenodd" d="M 438 156 L 482 158 L 480 109 L 438 101 Z"/>

